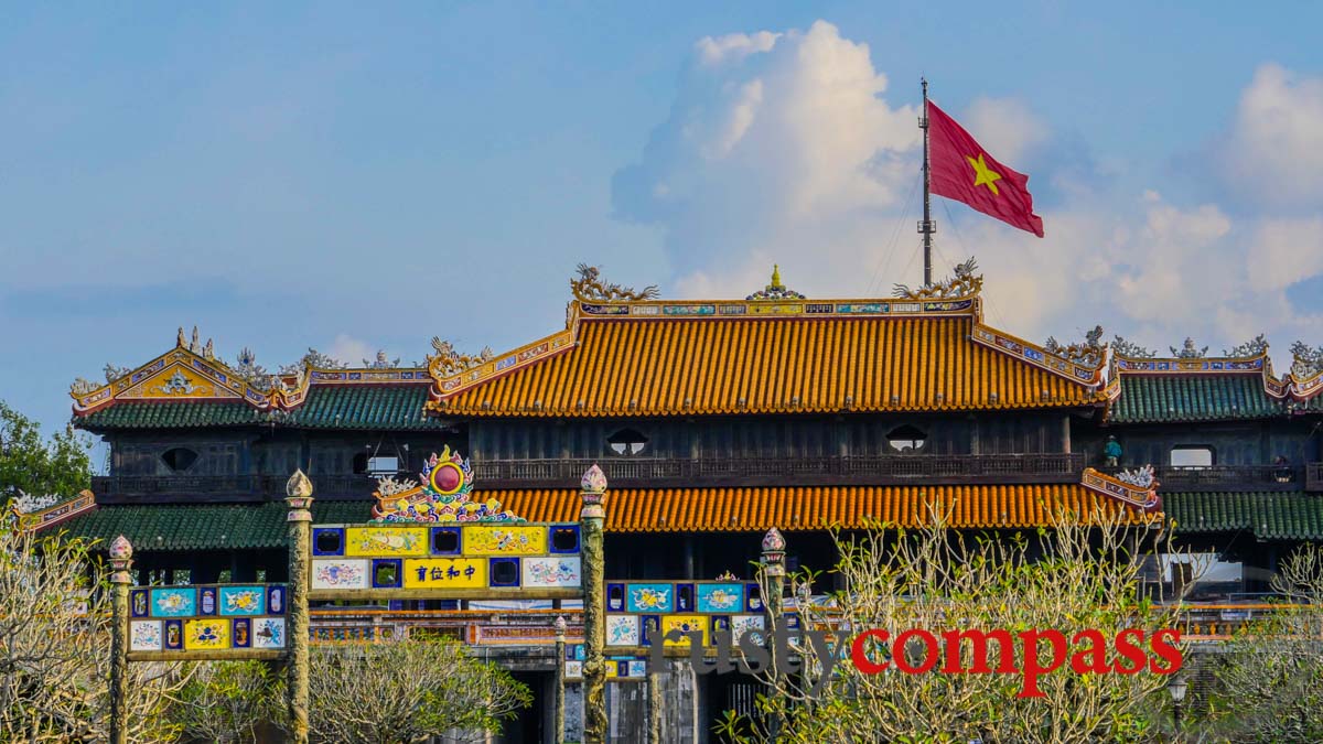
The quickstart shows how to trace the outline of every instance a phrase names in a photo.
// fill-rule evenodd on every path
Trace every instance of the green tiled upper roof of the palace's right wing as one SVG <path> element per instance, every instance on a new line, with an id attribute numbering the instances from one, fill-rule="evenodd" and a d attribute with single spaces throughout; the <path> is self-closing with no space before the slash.
<path id="1" fill-rule="evenodd" d="M 1262 375 L 1122 375 L 1111 405 L 1117 424 L 1267 418 L 1282 404 L 1263 391 Z"/>

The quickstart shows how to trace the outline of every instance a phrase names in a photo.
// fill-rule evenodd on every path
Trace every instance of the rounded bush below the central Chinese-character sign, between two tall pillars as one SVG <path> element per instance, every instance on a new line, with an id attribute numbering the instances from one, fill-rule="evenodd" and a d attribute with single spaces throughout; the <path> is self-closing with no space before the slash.
<path id="1" fill-rule="evenodd" d="M 456 732 L 480 741 L 533 699 L 509 673 L 448 639 L 315 646 L 311 661 L 318 741 L 397 744 Z"/>

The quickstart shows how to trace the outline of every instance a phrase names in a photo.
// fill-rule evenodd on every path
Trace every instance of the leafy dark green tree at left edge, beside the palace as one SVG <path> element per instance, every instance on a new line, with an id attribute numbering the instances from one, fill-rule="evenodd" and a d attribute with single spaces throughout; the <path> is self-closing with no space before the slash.
<path id="1" fill-rule="evenodd" d="M 64 499 L 87 488 L 90 449 L 73 426 L 42 440 L 36 422 L 0 401 L 0 506 L 21 494 Z"/>

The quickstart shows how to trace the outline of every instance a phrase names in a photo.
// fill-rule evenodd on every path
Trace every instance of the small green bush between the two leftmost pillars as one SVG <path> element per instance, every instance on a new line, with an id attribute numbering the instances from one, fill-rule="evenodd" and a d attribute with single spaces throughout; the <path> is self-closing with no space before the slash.
<path id="1" fill-rule="evenodd" d="M 171 715 L 185 739 L 257 743 L 262 724 L 283 715 L 282 704 L 280 680 L 266 662 L 202 662 Z"/>

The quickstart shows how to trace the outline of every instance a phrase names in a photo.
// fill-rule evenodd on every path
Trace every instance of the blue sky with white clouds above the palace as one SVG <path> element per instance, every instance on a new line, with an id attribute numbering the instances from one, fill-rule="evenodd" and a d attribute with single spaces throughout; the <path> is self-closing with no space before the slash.
<path id="1" fill-rule="evenodd" d="M 1323 343 L 1323 9 L 1154 5 L 8 5 L 0 398 L 62 425 L 180 324 L 273 368 L 500 351 L 579 261 L 663 297 L 916 283 L 919 74 L 1045 220 L 935 208 L 994 324 L 1267 332 L 1282 369 Z"/>

